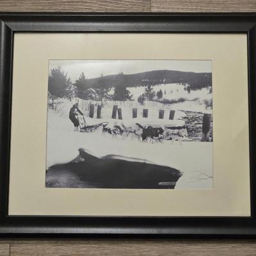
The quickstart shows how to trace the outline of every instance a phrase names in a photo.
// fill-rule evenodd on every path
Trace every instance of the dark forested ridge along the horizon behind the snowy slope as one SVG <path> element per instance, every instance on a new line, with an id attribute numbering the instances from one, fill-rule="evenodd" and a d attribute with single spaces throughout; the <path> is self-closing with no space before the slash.
<path id="1" fill-rule="evenodd" d="M 86 74 L 85 74 L 86 75 Z M 86 87 L 136 87 L 147 84 L 188 83 L 191 89 L 212 86 L 211 73 L 183 72 L 175 70 L 152 70 L 137 74 L 116 74 L 88 79 Z"/>

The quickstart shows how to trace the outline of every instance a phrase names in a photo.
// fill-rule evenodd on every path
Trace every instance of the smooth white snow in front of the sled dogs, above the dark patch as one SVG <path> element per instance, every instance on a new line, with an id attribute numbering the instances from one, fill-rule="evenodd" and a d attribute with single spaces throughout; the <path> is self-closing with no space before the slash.
<path id="1" fill-rule="evenodd" d="M 86 148 L 96 156 L 116 154 L 126 157 L 146 159 L 159 165 L 176 168 L 184 173 L 175 189 L 212 189 L 212 143 L 178 141 L 163 143 L 141 143 L 138 140 L 112 138 L 102 135 L 102 129 L 74 132 L 68 120 L 70 104 L 49 110 L 47 116 L 47 168 L 53 164 L 68 163 L 78 155 L 79 148 Z M 96 118 L 86 118 L 88 124 L 99 122 Z"/>

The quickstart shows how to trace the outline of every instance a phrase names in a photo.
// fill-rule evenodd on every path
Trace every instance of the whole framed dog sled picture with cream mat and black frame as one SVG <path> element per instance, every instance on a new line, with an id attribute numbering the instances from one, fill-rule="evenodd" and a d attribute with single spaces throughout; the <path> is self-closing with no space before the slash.
<path id="1" fill-rule="evenodd" d="M 0 233 L 255 236 L 255 13 L 0 13 Z"/>

